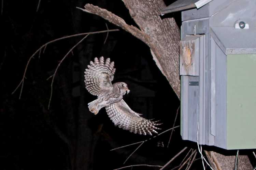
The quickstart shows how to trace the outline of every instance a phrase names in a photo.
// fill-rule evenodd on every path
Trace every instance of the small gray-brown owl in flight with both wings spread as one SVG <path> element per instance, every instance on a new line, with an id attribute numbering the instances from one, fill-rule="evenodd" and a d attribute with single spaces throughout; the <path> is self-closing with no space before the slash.
<path id="1" fill-rule="evenodd" d="M 90 62 L 88 69 L 85 69 L 85 87 L 90 94 L 98 96 L 98 98 L 88 103 L 90 112 L 95 115 L 102 107 L 114 124 L 119 128 L 128 130 L 138 134 L 157 133 L 157 121 L 147 120 L 141 117 L 139 113 L 125 103 L 123 96 L 129 93 L 126 83 L 118 82 L 112 84 L 115 74 L 114 62 L 110 62 L 110 58 L 104 60 L 104 57 L 94 58 L 94 62 Z"/>

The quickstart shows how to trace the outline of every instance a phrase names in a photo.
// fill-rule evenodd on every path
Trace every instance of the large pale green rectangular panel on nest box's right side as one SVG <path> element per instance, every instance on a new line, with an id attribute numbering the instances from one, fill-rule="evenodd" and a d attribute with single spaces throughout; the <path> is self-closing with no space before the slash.
<path id="1" fill-rule="evenodd" d="M 256 148 L 256 54 L 227 55 L 227 148 Z"/>

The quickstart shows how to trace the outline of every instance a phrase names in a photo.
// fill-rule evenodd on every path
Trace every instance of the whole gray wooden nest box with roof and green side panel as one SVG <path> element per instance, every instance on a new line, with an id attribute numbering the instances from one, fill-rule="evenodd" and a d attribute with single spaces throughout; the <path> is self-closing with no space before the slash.
<path id="1" fill-rule="evenodd" d="M 256 148 L 256 1 L 178 0 L 182 11 L 181 135 L 224 149 Z"/>

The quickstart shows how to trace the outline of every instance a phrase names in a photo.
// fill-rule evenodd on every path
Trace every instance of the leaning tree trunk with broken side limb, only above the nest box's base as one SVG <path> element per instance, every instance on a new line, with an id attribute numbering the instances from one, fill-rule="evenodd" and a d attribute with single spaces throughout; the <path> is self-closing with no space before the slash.
<path id="1" fill-rule="evenodd" d="M 135 8 L 145 6 L 147 1 L 124 1 L 132 18 L 141 30 L 128 25 L 122 18 L 113 13 L 92 4 L 85 5 L 85 12 L 96 14 L 111 23 L 121 27 L 133 36 L 142 40 L 151 49 L 156 65 L 167 78 L 174 92 L 180 98 L 180 76 L 179 76 L 179 40 L 180 30 L 173 18 L 161 20 L 159 14 L 161 6 L 156 3 L 145 9 Z M 140 4 L 141 3 L 141 4 Z M 134 5 L 134 6 L 132 6 Z M 141 6 L 139 6 L 141 5 Z M 164 5 L 164 4 L 163 4 Z M 151 8 L 152 7 L 152 8 Z M 133 10 L 131 10 L 133 9 Z M 148 11 L 147 11 L 148 10 Z M 141 12 L 144 11 L 144 12 Z M 146 11 L 146 12 L 145 12 Z M 152 24 L 154 23 L 154 24 Z M 171 26 L 171 27 L 170 27 Z M 171 29 L 163 29 L 171 28 Z"/>

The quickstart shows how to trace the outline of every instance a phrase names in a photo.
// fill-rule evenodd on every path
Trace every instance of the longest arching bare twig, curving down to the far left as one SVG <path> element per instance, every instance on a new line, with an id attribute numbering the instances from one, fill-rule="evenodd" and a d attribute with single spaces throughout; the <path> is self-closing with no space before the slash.
<path id="1" fill-rule="evenodd" d="M 31 61 L 31 59 L 34 57 L 35 54 L 37 54 L 38 52 L 41 53 L 40 51 L 43 49 L 43 53 L 45 52 L 45 49 L 47 47 L 48 44 L 54 43 L 56 41 L 62 40 L 62 39 L 66 39 L 66 38 L 71 38 L 71 37 L 77 37 L 77 36 L 82 36 L 82 35 L 88 35 L 88 34 L 98 34 L 98 33 L 105 33 L 105 32 L 113 32 L 113 31 L 119 31 L 119 29 L 113 29 L 113 30 L 104 30 L 104 31 L 95 31 L 95 32 L 87 32 L 87 33 L 80 33 L 80 34 L 74 34 L 74 35 L 69 35 L 69 36 L 65 36 L 65 37 L 61 37 L 61 38 L 57 38 L 54 39 L 52 41 L 49 41 L 47 43 L 45 43 L 44 45 L 42 45 L 39 49 L 37 49 L 37 51 L 35 51 L 30 58 L 28 59 L 27 65 L 25 67 L 25 71 L 22 77 L 22 80 L 20 81 L 20 83 L 18 84 L 18 86 L 15 88 L 15 90 L 12 92 L 12 95 L 15 93 L 15 91 L 20 87 L 20 85 L 22 85 L 24 83 L 24 79 L 25 79 L 25 75 L 27 72 L 27 68 L 28 65 Z M 20 94 L 19 94 L 19 99 L 21 98 L 22 95 L 22 89 L 20 90 Z"/>

